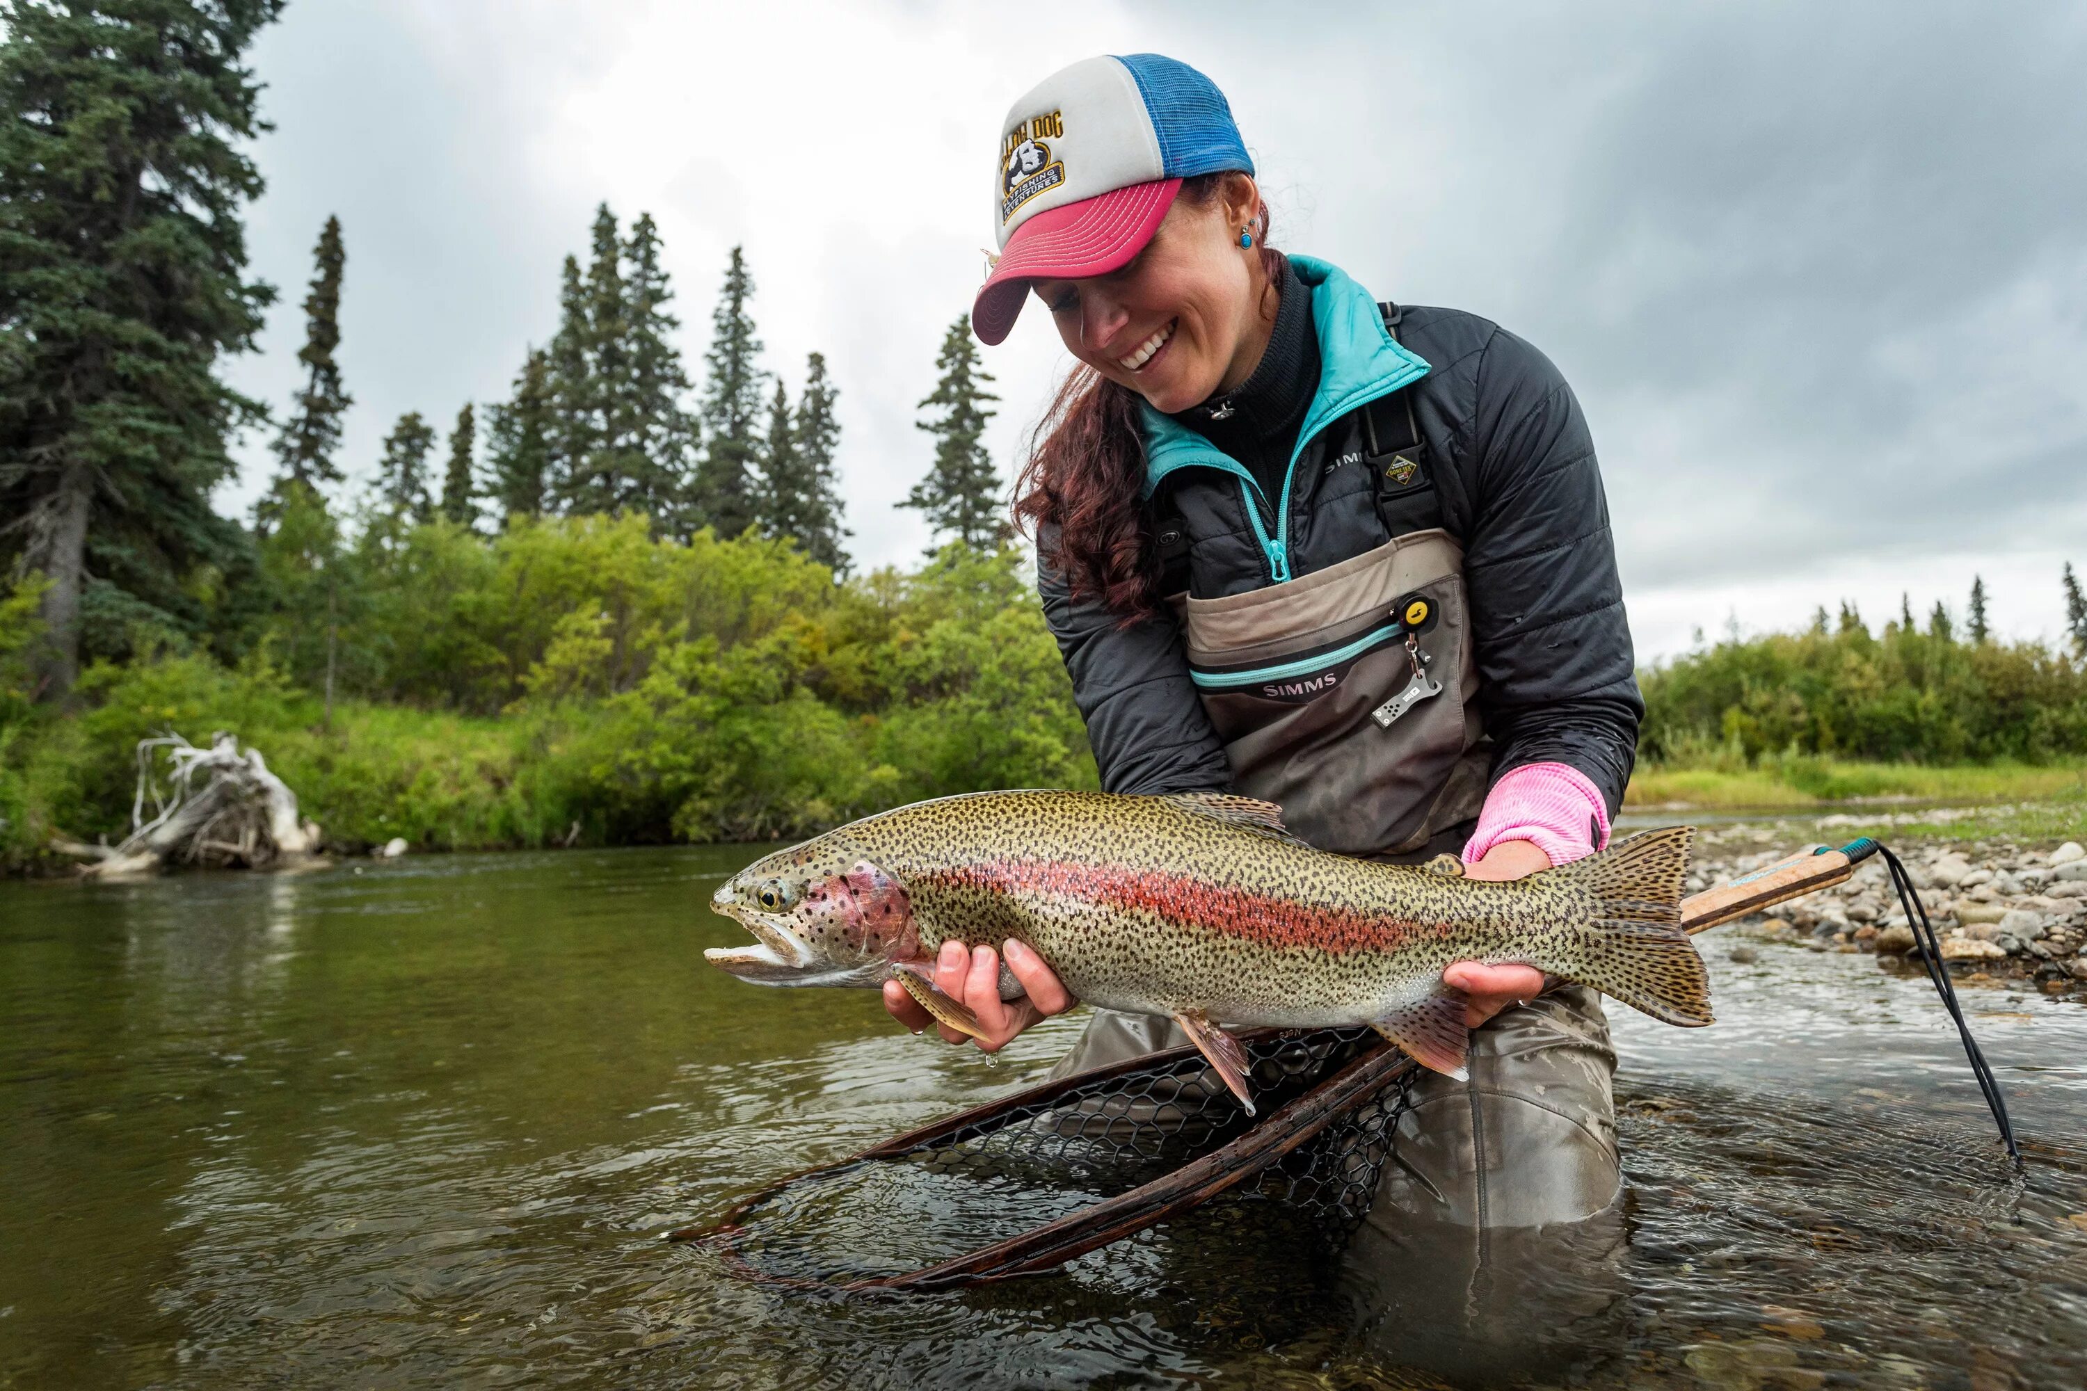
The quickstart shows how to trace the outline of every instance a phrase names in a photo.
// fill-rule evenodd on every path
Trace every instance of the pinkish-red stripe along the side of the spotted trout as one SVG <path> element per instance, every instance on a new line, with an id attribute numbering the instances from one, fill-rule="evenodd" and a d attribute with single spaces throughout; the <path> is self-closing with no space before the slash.
<path id="1" fill-rule="evenodd" d="M 1273 899 L 1185 874 L 1064 859 L 985 859 L 935 870 L 922 878 L 952 888 L 1029 890 L 1112 909 L 1144 909 L 1167 922 L 1196 926 L 1219 936 L 1238 936 L 1263 947 L 1319 947 L 1332 953 L 1390 951 L 1409 945 L 1415 936 L 1448 932 L 1448 926 L 1421 926 L 1340 907 Z"/>

